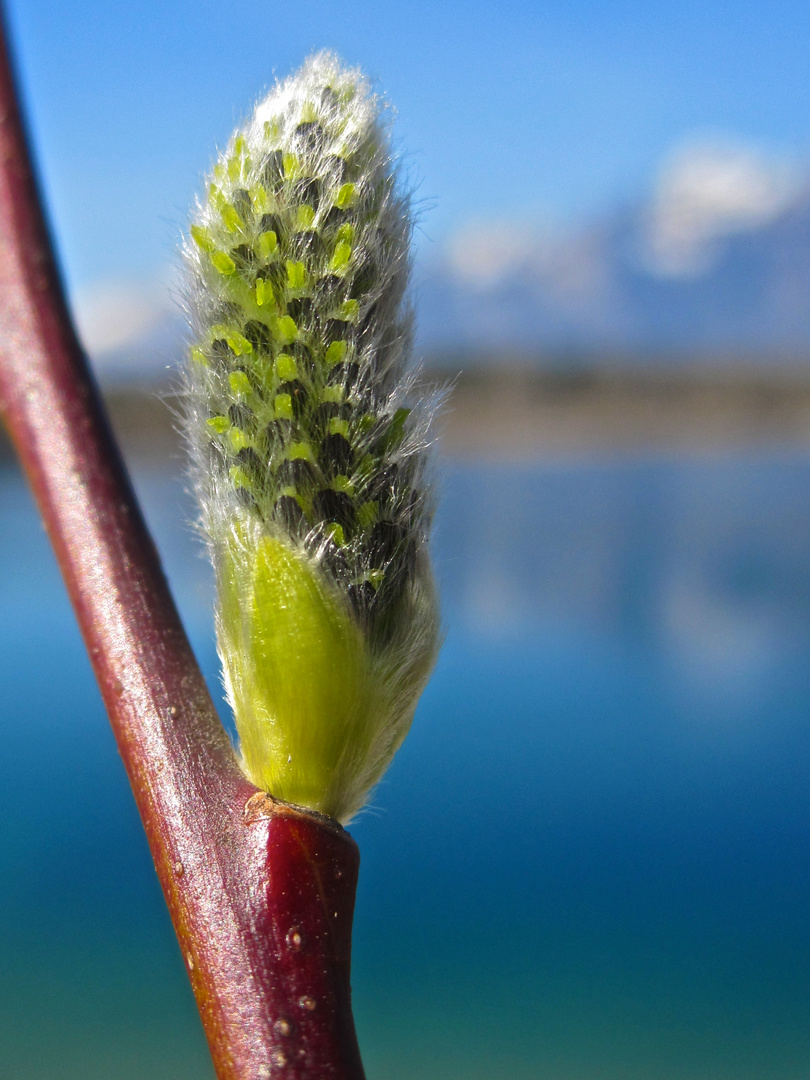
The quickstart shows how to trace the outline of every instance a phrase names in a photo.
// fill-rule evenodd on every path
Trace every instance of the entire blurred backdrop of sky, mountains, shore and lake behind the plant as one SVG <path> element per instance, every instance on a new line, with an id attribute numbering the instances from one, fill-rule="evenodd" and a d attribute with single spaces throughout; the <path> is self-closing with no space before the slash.
<path id="1" fill-rule="evenodd" d="M 446 644 L 352 826 L 369 1080 L 810 1075 L 810 8 L 8 0 L 79 327 L 214 693 L 176 246 L 313 50 L 395 103 Z M 227 720 L 227 710 L 222 707 Z M 0 451 L 0 1062 L 211 1078 Z"/>

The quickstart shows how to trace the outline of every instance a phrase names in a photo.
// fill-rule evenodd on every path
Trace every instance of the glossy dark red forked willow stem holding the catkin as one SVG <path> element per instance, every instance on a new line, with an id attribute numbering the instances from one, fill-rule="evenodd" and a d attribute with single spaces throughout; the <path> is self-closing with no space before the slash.
<path id="1" fill-rule="evenodd" d="M 359 855 L 240 772 L 65 303 L 0 31 L 0 416 L 65 577 L 220 1080 L 362 1080 Z"/>

